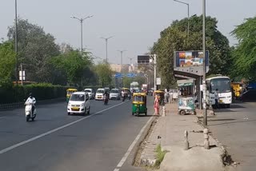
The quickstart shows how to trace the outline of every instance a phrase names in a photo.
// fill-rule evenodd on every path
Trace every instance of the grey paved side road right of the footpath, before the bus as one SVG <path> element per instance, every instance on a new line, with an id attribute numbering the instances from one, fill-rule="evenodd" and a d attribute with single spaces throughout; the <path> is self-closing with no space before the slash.
<path id="1" fill-rule="evenodd" d="M 228 170 L 251 171 L 256 168 L 256 103 L 234 103 L 230 109 L 216 110 L 208 125 L 214 137 L 226 146 L 232 159 L 239 162 Z"/>

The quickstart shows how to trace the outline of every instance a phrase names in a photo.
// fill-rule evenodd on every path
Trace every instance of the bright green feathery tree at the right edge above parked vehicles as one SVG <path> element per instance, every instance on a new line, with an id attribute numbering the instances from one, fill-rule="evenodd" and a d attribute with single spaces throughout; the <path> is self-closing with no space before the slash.
<path id="1" fill-rule="evenodd" d="M 234 78 L 247 78 L 256 81 L 256 17 L 247 18 L 231 34 L 238 39 L 238 46 L 233 50 Z"/>

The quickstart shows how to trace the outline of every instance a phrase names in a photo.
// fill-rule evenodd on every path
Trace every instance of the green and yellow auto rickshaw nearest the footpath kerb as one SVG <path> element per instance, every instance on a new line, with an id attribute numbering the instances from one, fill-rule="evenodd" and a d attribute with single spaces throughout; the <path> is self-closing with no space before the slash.
<path id="1" fill-rule="evenodd" d="M 138 116 L 140 113 L 147 114 L 146 108 L 146 93 L 134 93 L 132 114 Z"/>

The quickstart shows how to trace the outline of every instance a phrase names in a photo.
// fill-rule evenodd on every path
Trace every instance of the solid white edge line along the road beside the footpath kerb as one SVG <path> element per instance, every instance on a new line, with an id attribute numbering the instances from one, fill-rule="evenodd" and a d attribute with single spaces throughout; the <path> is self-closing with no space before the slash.
<path id="1" fill-rule="evenodd" d="M 139 138 L 142 136 L 142 133 L 144 132 L 144 130 L 146 129 L 146 126 L 150 124 L 150 121 L 153 119 L 153 117 L 151 117 L 149 119 L 149 121 L 146 122 L 146 125 L 143 126 L 143 128 L 141 129 L 141 131 L 138 133 L 138 136 L 135 138 L 135 140 L 133 141 L 133 143 L 131 143 L 129 149 L 126 151 L 125 155 L 122 157 L 121 161 L 119 161 L 117 168 L 121 168 L 122 165 L 126 162 L 127 157 L 130 155 L 130 152 L 132 149 L 134 149 L 134 145 L 138 142 Z M 119 169 L 118 169 L 119 170 Z M 116 171 L 116 169 L 114 169 L 114 171 Z"/>

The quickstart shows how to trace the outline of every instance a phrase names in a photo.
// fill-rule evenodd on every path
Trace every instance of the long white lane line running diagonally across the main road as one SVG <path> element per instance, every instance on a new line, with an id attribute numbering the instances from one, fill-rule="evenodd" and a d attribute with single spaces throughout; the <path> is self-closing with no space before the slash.
<path id="1" fill-rule="evenodd" d="M 124 104 L 124 103 L 126 103 L 126 102 L 127 102 L 127 101 L 122 102 L 122 103 L 120 103 L 120 104 L 118 104 L 118 105 L 122 105 L 122 104 Z M 28 139 L 28 140 L 26 140 L 26 141 L 19 142 L 19 143 L 16 144 L 16 145 L 11 145 L 10 147 L 7 147 L 6 149 L 2 149 L 2 150 L 0 151 L 0 154 L 6 153 L 6 152 L 10 151 L 11 149 L 15 149 L 15 148 L 17 148 L 17 147 L 19 147 L 19 146 L 21 146 L 21 145 L 25 145 L 25 144 L 27 144 L 27 143 L 29 143 L 29 142 L 31 142 L 31 141 L 35 141 L 35 140 L 37 140 L 37 139 L 39 139 L 39 138 L 41 138 L 41 137 L 45 137 L 46 135 L 49 135 L 50 133 L 54 133 L 54 132 L 56 132 L 56 131 L 58 131 L 58 130 L 60 130 L 60 129 L 64 129 L 64 128 L 70 126 L 70 125 L 74 125 L 75 123 L 78 123 L 79 121 L 83 121 L 83 120 L 85 120 L 85 119 L 87 119 L 87 118 L 89 118 L 89 117 L 93 117 L 94 115 L 96 115 L 96 114 L 98 114 L 98 113 L 105 112 L 106 110 L 109 110 L 109 109 L 112 109 L 112 108 L 114 108 L 114 107 L 117 107 L 118 105 L 113 105 L 113 106 L 111 106 L 111 107 L 109 107 L 109 108 L 107 108 L 107 109 L 102 109 L 101 111 L 98 111 L 97 113 L 91 114 L 91 115 L 89 115 L 89 116 L 87 116 L 87 117 L 82 117 L 81 119 L 78 119 L 77 121 L 72 121 L 72 122 L 70 122 L 69 124 L 62 125 L 62 126 L 56 128 L 56 129 L 52 129 L 52 130 L 50 130 L 50 131 L 48 131 L 48 132 L 46 132 L 46 133 L 42 133 L 42 134 L 40 134 L 40 135 L 38 135 L 38 136 L 36 136 L 36 137 L 32 137 L 32 138 L 30 138 L 30 139 Z"/>

